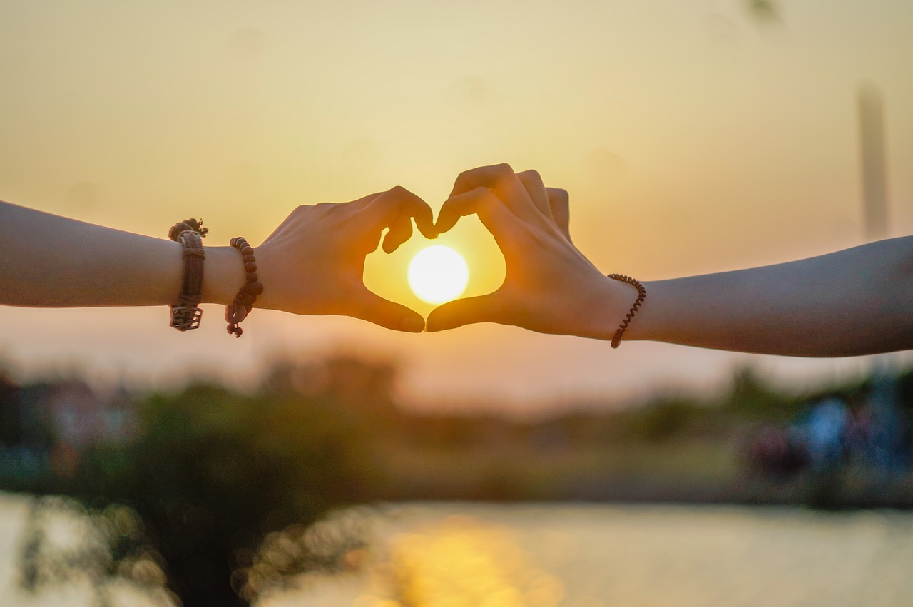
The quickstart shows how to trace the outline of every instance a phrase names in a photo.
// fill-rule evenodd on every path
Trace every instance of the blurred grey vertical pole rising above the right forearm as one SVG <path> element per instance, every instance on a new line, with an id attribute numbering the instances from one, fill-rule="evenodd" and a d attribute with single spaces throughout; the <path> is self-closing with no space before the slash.
<path id="1" fill-rule="evenodd" d="M 856 106 L 859 111 L 866 239 L 880 240 L 887 237 L 885 120 L 881 93 L 871 84 L 860 86 Z"/>

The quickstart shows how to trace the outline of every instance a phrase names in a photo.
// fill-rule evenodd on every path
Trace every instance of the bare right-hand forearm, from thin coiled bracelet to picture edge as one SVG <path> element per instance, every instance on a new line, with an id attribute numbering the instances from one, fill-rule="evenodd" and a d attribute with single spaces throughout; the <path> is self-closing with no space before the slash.
<path id="1" fill-rule="evenodd" d="M 625 340 L 792 356 L 913 348 L 913 237 L 645 287 Z"/>

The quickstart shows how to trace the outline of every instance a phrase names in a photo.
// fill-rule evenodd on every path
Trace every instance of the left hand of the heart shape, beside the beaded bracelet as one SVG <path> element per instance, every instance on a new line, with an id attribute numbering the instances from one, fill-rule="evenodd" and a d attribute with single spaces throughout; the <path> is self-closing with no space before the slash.
<path id="1" fill-rule="evenodd" d="M 257 308 L 344 314 L 388 329 L 419 332 L 425 319 L 364 286 L 364 258 L 380 243 L 392 253 L 412 235 L 412 219 L 435 238 L 431 208 L 403 187 L 351 203 L 299 206 L 257 247 L 263 295 Z"/>

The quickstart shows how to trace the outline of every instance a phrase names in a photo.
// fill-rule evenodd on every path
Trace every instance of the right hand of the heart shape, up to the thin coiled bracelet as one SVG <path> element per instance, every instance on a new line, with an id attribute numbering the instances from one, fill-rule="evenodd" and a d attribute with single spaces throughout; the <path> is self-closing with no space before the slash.
<path id="1" fill-rule="evenodd" d="M 427 330 L 498 322 L 541 333 L 612 338 L 636 293 L 606 278 L 573 246 L 567 192 L 546 188 L 535 171 L 514 173 L 508 164 L 480 167 L 456 178 L 437 216 L 437 233 L 472 214 L 504 254 L 504 284 L 494 293 L 434 309 Z"/>

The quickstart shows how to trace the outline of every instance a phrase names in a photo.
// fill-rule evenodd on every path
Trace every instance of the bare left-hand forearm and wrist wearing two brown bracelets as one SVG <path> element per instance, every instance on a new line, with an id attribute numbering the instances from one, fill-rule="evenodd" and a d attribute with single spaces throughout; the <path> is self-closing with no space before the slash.
<path id="1" fill-rule="evenodd" d="M 157 306 L 181 290 L 182 246 L 0 203 L 0 304 Z M 203 300 L 228 303 L 244 274 L 231 247 L 206 247 Z"/>

